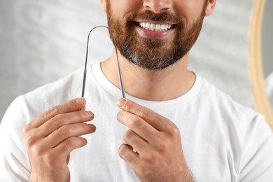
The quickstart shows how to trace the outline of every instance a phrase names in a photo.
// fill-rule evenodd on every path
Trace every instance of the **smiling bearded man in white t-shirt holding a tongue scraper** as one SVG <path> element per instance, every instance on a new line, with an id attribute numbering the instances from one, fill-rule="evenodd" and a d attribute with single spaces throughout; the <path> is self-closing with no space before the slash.
<path id="1" fill-rule="evenodd" d="M 89 66 L 85 99 L 71 99 L 82 70 L 18 97 L 1 125 L 0 178 L 272 181 L 272 132 L 262 116 L 187 69 L 215 5 L 102 0 L 127 99 L 119 99 L 115 54 Z"/>

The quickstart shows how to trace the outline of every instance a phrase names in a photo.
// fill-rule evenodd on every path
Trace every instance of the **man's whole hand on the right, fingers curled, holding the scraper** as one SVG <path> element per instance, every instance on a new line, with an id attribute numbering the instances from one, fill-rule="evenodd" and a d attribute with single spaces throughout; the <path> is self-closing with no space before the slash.
<path id="1" fill-rule="evenodd" d="M 120 158 L 141 181 L 193 181 L 182 151 L 179 128 L 167 118 L 129 99 L 117 102 L 118 121 L 130 129 Z"/>

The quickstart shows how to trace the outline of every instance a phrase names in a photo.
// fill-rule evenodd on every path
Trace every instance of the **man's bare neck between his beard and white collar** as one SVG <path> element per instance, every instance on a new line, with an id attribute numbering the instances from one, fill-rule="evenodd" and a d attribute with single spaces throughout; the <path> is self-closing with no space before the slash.
<path id="1" fill-rule="evenodd" d="M 175 99 L 188 92 L 195 82 L 195 74 L 188 71 L 187 66 L 188 54 L 176 64 L 160 71 L 142 69 L 120 55 L 125 92 L 150 101 Z M 106 78 L 120 87 L 116 55 L 102 62 L 101 67 Z"/>

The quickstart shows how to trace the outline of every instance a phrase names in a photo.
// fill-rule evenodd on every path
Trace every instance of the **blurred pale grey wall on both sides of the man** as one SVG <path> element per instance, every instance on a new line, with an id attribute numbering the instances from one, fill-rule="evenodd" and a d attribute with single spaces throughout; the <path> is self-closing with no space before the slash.
<path id="1" fill-rule="evenodd" d="M 248 28 L 252 6 L 253 0 L 218 1 L 190 55 L 191 70 L 251 107 Z M 106 25 L 99 0 L 1 0 L 0 118 L 18 95 L 83 67 L 87 34 L 96 25 Z M 112 48 L 107 30 L 95 30 L 89 63 L 106 59 Z"/>

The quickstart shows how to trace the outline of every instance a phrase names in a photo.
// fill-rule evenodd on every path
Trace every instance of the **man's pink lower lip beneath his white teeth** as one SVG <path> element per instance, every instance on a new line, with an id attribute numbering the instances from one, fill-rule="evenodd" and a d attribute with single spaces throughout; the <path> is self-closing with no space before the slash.
<path id="1" fill-rule="evenodd" d="M 167 31 L 151 31 L 148 29 L 141 28 L 137 25 L 136 27 L 137 27 L 137 32 L 139 33 L 139 35 L 144 38 L 164 39 L 164 38 L 168 38 L 174 32 L 174 29 L 169 29 Z"/>

